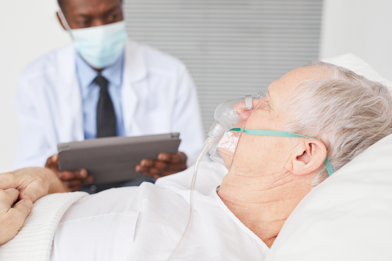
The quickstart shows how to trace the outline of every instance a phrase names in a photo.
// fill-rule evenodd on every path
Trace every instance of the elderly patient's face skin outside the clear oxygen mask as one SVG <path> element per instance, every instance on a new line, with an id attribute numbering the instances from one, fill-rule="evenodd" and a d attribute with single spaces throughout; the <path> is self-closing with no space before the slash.
<path id="1" fill-rule="evenodd" d="M 295 95 L 296 85 L 306 79 L 323 78 L 323 72 L 317 67 L 302 67 L 292 70 L 280 79 L 270 84 L 267 95 L 262 100 L 253 100 L 254 109 L 245 110 L 243 104 L 238 104 L 243 115 L 245 125 L 238 126 L 248 130 L 281 131 L 286 122 L 284 104 L 287 99 Z M 256 106 L 259 104 L 259 106 Z M 303 101 L 305 104 L 306 101 Z M 298 104 L 302 106 L 303 104 Z M 285 163 L 293 148 L 301 142 L 300 138 L 284 138 L 260 135 L 241 134 L 236 147 L 233 162 L 230 166 L 243 170 L 260 168 L 260 173 L 277 173 L 285 171 Z M 227 160 L 225 160 L 226 165 Z"/>

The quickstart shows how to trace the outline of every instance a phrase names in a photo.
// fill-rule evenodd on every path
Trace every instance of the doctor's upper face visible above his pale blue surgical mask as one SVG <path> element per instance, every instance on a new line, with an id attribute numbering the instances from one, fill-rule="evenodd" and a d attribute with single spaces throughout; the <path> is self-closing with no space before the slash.
<path id="1" fill-rule="evenodd" d="M 62 11 L 71 29 L 105 25 L 123 20 L 122 0 L 62 1 Z"/>

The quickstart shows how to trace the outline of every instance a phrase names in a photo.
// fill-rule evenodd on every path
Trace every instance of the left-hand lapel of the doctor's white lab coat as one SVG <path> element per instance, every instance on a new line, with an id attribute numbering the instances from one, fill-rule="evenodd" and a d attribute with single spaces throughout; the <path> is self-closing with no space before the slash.
<path id="1" fill-rule="evenodd" d="M 83 108 L 73 46 L 58 59 L 58 142 L 83 140 Z"/>

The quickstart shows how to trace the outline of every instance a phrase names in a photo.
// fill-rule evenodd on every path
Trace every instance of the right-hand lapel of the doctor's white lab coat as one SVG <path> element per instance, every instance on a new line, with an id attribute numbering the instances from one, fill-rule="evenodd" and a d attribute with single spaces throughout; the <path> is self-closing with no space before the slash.
<path id="1" fill-rule="evenodd" d="M 146 83 L 141 82 L 147 75 L 147 67 L 140 46 L 133 41 L 128 41 L 125 47 L 125 61 L 122 85 L 122 109 L 125 134 L 138 135 L 140 130 L 135 124 L 134 113 L 137 109 L 139 97 L 135 90 L 145 88 Z"/>

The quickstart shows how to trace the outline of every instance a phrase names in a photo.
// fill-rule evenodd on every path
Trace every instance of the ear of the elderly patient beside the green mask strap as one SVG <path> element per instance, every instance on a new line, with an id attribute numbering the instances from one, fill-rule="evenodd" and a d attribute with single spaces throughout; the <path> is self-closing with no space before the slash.
<path id="1" fill-rule="evenodd" d="M 327 148 L 323 142 L 305 138 L 305 142 L 298 144 L 294 149 L 285 167 L 294 175 L 306 175 L 319 169 L 326 157 Z"/>

